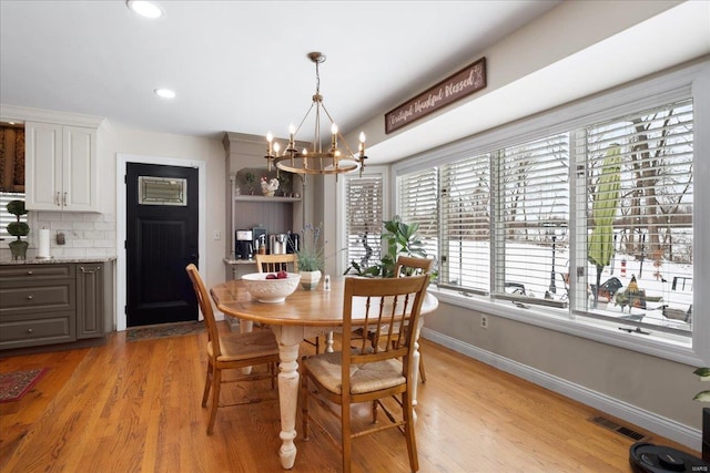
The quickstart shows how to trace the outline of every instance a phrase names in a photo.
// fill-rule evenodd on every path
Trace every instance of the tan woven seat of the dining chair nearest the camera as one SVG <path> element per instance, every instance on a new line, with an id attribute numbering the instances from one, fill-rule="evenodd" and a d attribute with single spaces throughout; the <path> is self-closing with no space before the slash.
<path id="1" fill-rule="evenodd" d="M 343 390 L 342 352 L 321 353 L 304 360 L 307 370 L 328 391 L 339 394 Z M 402 362 L 395 359 L 356 364 L 351 367 L 351 393 L 381 391 L 405 384 Z"/>

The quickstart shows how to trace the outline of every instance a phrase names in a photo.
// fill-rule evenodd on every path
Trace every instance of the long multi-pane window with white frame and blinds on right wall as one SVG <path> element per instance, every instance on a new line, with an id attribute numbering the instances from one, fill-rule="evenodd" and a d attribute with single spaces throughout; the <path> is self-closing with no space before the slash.
<path id="1" fill-rule="evenodd" d="M 710 111 L 693 82 L 708 75 L 679 70 L 393 166 L 397 212 L 420 223 L 438 255 L 440 297 L 707 359 L 710 317 L 693 306 L 710 296 L 693 288 L 710 251 L 693 244 L 710 240 L 698 220 L 710 191 L 693 176 L 708 173 L 699 148 L 709 138 L 694 130 Z"/>

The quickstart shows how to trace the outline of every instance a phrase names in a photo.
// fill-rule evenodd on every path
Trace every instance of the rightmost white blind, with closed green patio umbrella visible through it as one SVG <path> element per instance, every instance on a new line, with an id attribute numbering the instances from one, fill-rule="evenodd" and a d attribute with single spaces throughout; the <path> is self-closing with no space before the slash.
<path id="1" fill-rule="evenodd" d="M 604 266 L 589 263 L 592 297 L 579 297 L 585 287 L 580 285 L 576 308 L 637 326 L 691 330 L 692 101 L 595 124 L 579 134 L 578 146 L 585 150 L 579 178 L 586 179 L 586 194 L 577 220 L 587 225 L 588 238 L 578 247 L 577 264 L 586 266 L 598 245 L 591 235 L 606 224 L 612 256 Z M 615 153 L 618 164 L 610 167 Z M 612 193 L 609 174 L 618 188 Z M 602 197 L 611 200 L 609 222 L 595 206 Z"/>

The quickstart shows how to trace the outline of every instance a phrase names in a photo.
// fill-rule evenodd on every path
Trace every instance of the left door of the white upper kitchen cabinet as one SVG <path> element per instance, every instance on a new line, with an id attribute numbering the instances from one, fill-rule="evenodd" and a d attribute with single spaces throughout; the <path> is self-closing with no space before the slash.
<path id="1" fill-rule="evenodd" d="M 24 206 L 60 210 L 62 189 L 62 125 L 24 124 Z"/>

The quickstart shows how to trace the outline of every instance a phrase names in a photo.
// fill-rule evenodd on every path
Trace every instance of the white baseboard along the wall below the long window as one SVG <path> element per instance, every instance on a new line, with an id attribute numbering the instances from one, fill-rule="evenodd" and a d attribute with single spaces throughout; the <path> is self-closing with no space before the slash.
<path id="1" fill-rule="evenodd" d="M 600 392 L 589 390 L 562 378 L 551 376 L 490 351 L 483 350 L 473 345 L 465 343 L 449 336 L 429 330 L 426 327 L 422 328 L 422 338 L 442 345 L 518 378 L 523 378 L 535 384 L 541 385 L 542 388 L 574 399 L 575 401 L 579 401 L 582 404 L 598 409 L 599 411 L 606 412 L 615 418 L 631 422 L 635 425 L 673 440 L 698 452 L 701 449 L 702 434 L 700 429 L 693 429 L 653 412 L 639 409 L 628 402 L 619 401 L 618 399 L 613 399 Z"/>

